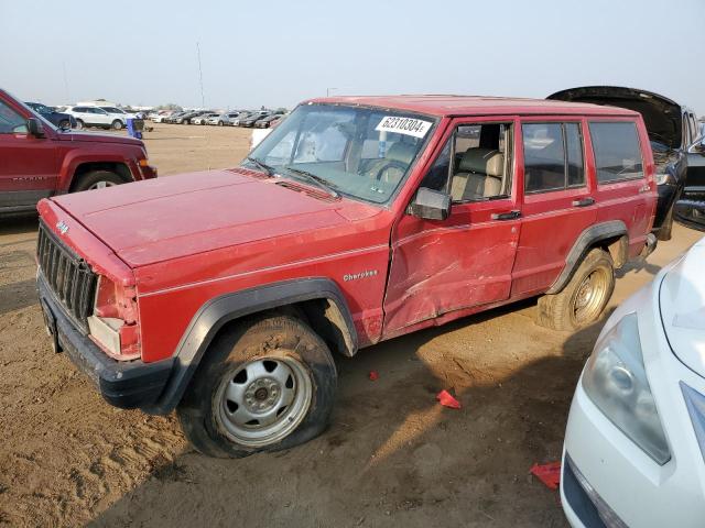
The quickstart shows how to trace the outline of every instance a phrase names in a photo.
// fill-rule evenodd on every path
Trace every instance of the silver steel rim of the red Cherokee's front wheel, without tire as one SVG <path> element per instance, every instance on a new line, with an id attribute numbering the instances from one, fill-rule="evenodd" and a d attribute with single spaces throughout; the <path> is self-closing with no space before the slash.
<path id="1" fill-rule="evenodd" d="M 299 427 L 313 397 L 308 370 L 293 358 L 258 358 L 230 370 L 216 393 L 216 420 L 246 447 L 276 443 Z"/>

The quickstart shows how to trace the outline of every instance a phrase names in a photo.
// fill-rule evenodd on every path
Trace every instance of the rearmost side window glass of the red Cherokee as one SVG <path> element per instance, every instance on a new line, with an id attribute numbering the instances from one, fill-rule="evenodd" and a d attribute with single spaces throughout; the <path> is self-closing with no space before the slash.
<path id="1" fill-rule="evenodd" d="M 595 168 L 600 184 L 643 177 L 643 162 L 633 122 L 592 122 Z"/>

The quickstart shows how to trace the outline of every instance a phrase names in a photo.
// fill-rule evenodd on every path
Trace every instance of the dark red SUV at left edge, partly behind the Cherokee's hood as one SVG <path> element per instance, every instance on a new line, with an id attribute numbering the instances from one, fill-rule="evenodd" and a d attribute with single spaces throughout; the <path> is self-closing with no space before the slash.
<path id="1" fill-rule="evenodd" d="M 0 216 L 42 198 L 156 176 L 141 141 L 58 129 L 0 90 Z"/>

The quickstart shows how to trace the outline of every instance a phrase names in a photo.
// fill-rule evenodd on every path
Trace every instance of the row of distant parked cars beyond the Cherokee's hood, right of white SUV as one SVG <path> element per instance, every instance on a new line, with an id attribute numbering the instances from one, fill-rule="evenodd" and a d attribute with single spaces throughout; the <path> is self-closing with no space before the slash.
<path id="1" fill-rule="evenodd" d="M 155 123 L 210 124 L 217 127 L 248 127 L 268 129 L 284 117 L 283 112 L 271 110 L 237 110 L 215 112 L 213 110 L 192 110 L 181 112 L 154 112 L 150 119 Z"/>

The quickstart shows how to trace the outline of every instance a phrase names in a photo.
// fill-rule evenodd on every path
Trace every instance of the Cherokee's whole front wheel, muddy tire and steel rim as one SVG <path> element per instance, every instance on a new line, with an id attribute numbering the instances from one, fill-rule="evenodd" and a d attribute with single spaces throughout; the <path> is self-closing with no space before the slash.
<path id="1" fill-rule="evenodd" d="M 293 448 L 328 425 L 337 388 L 325 342 L 292 317 L 243 321 L 206 351 L 176 415 L 202 453 Z"/>

